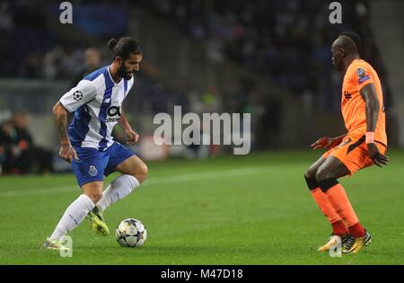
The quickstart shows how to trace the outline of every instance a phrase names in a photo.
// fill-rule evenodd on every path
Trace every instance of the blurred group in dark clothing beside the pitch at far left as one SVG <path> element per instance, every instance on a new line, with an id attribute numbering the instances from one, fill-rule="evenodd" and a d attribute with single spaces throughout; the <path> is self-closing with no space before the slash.
<path id="1" fill-rule="evenodd" d="M 34 143 L 29 122 L 25 112 L 0 122 L 0 175 L 53 172 L 53 154 Z"/>

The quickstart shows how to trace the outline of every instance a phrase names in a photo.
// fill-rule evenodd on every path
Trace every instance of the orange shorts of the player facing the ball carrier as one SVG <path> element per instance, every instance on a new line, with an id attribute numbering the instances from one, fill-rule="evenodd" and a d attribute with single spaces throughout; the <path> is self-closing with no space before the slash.
<path id="1" fill-rule="evenodd" d="M 340 162 L 347 166 L 347 169 L 351 172 L 350 175 L 352 175 L 356 171 L 373 165 L 373 161 L 367 153 L 367 146 L 364 143 L 364 139 L 364 136 L 348 134 L 338 146 L 329 149 L 329 151 L 322 156 L 327 158 L 329 155 L 332 155 L 338 158 Z M 377 141 L 376 146 L 379 148 L 382 155 L 386 153 L 387 146 Z"/>

